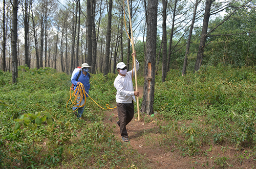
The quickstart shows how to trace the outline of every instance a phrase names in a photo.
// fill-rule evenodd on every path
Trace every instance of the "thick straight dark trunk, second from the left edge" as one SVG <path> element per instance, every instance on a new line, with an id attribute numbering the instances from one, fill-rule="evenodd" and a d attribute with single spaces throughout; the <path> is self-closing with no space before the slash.
<path id="1" fill-rule="evenodd" d="M 12 29 L 11 29 L 11 36 L 12 36 L 12 83 L 17 83 L 18 78 L 18 61 L 17 61 L 17 19 L 18 13 L 18 1 L 12 1 Z"/>

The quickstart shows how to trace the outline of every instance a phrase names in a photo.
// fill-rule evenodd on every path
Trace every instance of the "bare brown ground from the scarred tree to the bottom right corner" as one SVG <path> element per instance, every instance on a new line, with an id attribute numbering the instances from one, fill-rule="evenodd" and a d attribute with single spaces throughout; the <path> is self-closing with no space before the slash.
<path id="1" fill-rule="evenodd" d="M 138 91 L 141 98 L 143 96 L 143 87 L 139 86 Z M 117 109 L 109 110 L 105 115 L 104 123 L 116 125 L 114 132 L 116 137 L 119 137 L 121 140 L 120 130 L 116 124 L 118 121 Z M 151 117 L 147 116 L 147 118 Z M 238 154 L 245 155 L 246 153 L 244 152 L 246 150 L 238 152 L 228 145 L 205 145 L 200 147 L 201 155 L 194 156 L 182 155 L 182 151 L 176 147 L 178 145 L 177 140 L 173 140 L 172 145 L 160 145 L 158 143 L 161 142 L 159 139 L 164 137 L 160 136 L 161 133 L 158 132 L 159 126 L 153 118 L 148 123 L 144 122 L 143 118 L 138 121 L 138 118 L 134 117 L 126 126 L 129 135 L 128 144 L 130 144 L 133 150 L 137 150 L 143 156 L 146 160 L 146 168 L 254 168 L 256 166 L 253 158 L 239 160 Z M 181 136 L 177 139 L 184 140 Z"/>

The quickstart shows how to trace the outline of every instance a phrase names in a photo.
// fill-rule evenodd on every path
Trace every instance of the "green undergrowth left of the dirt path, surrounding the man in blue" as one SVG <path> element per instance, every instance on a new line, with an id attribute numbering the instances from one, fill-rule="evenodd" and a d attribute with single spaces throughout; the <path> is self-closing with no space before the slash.
<path id="1" fill-rule="evenodd" d="M 113 103 L 116 75 L 91 75 L 90 96 Z M 104 111 L 87 98 L 78 120 L 66 103 L 70 75 L 20 66 L 18 83 L 0 71 L 0 168 L 137 168 L 142 157 L 103 124 Z M 115 106 L 110 104 L 111 107 Z M 136 160 L 134 160 L 134 158 Z"/>

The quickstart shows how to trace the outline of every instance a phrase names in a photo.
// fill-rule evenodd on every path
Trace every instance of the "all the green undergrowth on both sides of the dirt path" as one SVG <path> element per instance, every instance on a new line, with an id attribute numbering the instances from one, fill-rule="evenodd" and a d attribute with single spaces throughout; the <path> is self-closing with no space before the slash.
<path id="1" fill-rule="evenodd" d="M 103 108 L 116 106 L 116 76 L 91 75 L 89 95 Z M 164 83 L 160 75 L 155 82 L 155 116 L 141 115 L 158 126 L 144 131 L 148 144 L 211 160 L 199 168 L 256 161 L 255 68 L 208 66 L 186 76 L 171 70 Z M 70 85 L 70 75 L 51 68 L 19 67 L 15 85 L 0 71 L 0 168 L 145 168 L 147 159 L 114 136 L 103 123 L 106 110 L 90 98 L 82 120 L 70 102 L 66 109 Z M 212 155 L 216 147 L 222 156 Z M 231 150 L 235 157 L 225 156 Z"/>

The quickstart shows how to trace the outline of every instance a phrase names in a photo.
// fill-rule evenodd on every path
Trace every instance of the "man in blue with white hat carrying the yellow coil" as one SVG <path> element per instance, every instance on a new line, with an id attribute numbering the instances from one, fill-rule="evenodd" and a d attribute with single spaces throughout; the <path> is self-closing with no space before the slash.
<path id="1" fill-rule="evenodd" d="M 82 83 L 83 86 L 84 86 L 84 90 L 89 94 L 89 89 L 90 89 L 90 74 L 89 74 L 89 70 L 90 70 L 90 67 L 88 63 L 83 63 L 82 66 L 81 66 L 81 70 L 82 71 L 80 74 L 79 74 L 79 71 L 74 75 L 74 77 L 72 78 L 71 80 L 71 83 L 74 84 L 74 91 L 75 89 L 77 88 L 77 86 L 79 85 L 79 83 Z M 80 75 L 80 77 L 78 78 L 78 80 L 76 81 L 77 77 Z M 86 96 L 88 97 L 88 95 L 86 94 Z M 84 95 L 83 95 L 83 98 L 80 102 L 80 105 L 83 105 L 84 104 Z M 77 97 L 77 101 L 80 100 L 80 97 L 78 96 Z M 77 104 L 78 106 L 79 104 Z M 78 113 L 77 113 L 77 118 L 81 118 L 82 116 L 82 113 L 83 113 L 83 110 L 84 110 L 84 106 L 83 107 L 73 107 L 73 110 L 78 110 Z"/>

